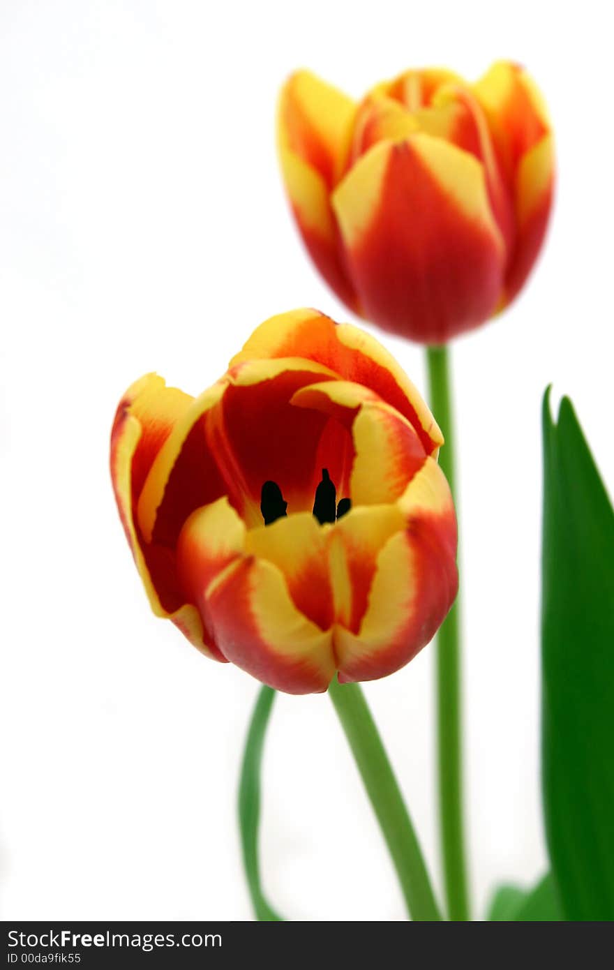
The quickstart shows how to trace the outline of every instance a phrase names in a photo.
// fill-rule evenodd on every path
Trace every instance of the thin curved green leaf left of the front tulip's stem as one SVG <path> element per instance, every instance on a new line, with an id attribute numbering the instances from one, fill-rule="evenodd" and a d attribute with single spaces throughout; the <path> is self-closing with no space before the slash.
<path id="1" fill-rule="evenodd" d="M 271 687 L 261 688 L 249 722 L 239 786 L 239 825 L 241 828 L 243 865 L 256 919 L 260 921 L 283 920 L 283 917 L 277 916 L 265 897 L 258 864 L 262 752 L 274 700 L 275 691 Z"/>

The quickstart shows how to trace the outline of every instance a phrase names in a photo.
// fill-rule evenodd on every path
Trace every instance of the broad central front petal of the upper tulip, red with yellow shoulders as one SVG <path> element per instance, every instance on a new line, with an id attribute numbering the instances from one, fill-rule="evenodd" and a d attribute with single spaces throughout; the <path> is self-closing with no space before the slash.
<path id="1" fill-rule="evenodd" d="M 374 146 L 333 196 L 366 315 L 385 330 L 441 343 L 487 319 L 505 247 L 483 166 L 418 134 Z"/>

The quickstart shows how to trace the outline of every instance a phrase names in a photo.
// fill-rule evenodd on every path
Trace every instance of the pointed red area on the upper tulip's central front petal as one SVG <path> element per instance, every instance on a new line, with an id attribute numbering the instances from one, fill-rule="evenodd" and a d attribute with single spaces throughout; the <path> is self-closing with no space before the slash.
<path id="1" fill-rule="evenodd" d="M 444 342 L 492 314 L 502 256 L 501 240 L 459 210 L 410 142 L 394 146 L 370 225 L 348 253 L 366 315 L 410 339 Z"/>

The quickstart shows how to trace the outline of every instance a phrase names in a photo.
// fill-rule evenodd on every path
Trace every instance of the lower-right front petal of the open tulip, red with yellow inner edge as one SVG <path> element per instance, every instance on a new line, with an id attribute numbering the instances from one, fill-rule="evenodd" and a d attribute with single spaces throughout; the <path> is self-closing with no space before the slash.
<path id="1" fill-rule="evenodd" d="M 456 597 L 456 519 L 433 459 L 412 479 L 398 508 L 405 528 L 377 556 L 360 630 L 335 630 L 341 683 L 400 669 L 433 638 Z"/>

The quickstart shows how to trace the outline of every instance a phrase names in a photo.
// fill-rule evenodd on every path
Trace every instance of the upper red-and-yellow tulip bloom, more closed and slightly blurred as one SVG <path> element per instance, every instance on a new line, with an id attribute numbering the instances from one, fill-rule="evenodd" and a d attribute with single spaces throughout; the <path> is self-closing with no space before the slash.
<path id="1" fill-rule="evenodd" d="M 553 139 L 515 64 L 469 84 L 409 71 L 355 103 L 300 71 L 278 113 L 281 170 L 316 267 L 354 312 L 428 344 L 524 285 L 546 230 Z"/>

